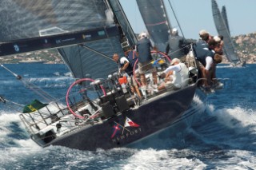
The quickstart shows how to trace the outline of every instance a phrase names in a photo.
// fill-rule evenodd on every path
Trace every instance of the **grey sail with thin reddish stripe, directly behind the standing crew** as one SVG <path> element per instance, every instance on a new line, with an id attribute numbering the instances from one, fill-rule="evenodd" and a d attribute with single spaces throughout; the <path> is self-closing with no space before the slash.
<path id="1" fill-rule="evenodd" d="M 171 26 L 162 0 L 137 0 L 137 3 L 150 39 L 158 50 L 165 51 Z"/>

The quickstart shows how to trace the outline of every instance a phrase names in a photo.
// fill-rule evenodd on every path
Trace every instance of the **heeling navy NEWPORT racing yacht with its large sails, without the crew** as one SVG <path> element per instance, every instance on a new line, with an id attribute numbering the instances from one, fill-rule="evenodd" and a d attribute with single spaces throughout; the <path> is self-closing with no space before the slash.
<path id="1" fill-rule="evenodd" d="M 38 89 L 44 101 L 34 100 L 22 109 L 22 123 L 38 145 L 125 147 L 205 109 L 197 70 L 182 89 L 147 92 L 144 98 L 130 93 L 125 75 L 111 59 L 137 42 L 118 0 L 3 0 L 0 5 L 5 30 L 0 33 L 0 56 L 55 48 L 74 77 L 66 94 L 60 94 L 64 97 L 51 98 Z"/>

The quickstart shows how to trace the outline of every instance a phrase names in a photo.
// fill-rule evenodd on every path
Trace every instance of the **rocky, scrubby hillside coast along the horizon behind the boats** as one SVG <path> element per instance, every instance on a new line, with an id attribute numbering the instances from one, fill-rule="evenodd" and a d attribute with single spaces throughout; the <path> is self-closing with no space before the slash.
<path id="1" fill-rule="evenodd" d="M 238 35 L 232 38 L 234 46 L 237 49 L 238 56 L 246 63 L 256 62 L 256 32 L 246 35 Z M 56 49 L 42 50 L 34 53 L 19 54 L 14 56 L 0 57 L 1 64 L 18 63 L 18 61 L 45 61 L 46 64 L 63 63 L 60 54 Z M 224 57 L 223 63 L 226 63 L 226 57 Z"/>

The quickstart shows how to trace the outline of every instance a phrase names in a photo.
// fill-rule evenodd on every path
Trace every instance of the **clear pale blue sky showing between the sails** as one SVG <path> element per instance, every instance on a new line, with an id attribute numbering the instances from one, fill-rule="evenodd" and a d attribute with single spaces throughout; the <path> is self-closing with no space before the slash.
<path id="1" fill-rule="evenodd" d="M 136 0 L 119 0 L 135 33 L 146 30 Z M 168 0 L 164 0 L 171 26 L 178 28 Z M 217 35 L 211 10 L 211 0 L 170 0 L 185 38 L 198 39 L 200 30 Z M 256 0 L 217 0 L 218 7 L 226 6 L 231 36 L 256 32 Z M 178 28 L 178 30 L 180 30 Z"/>

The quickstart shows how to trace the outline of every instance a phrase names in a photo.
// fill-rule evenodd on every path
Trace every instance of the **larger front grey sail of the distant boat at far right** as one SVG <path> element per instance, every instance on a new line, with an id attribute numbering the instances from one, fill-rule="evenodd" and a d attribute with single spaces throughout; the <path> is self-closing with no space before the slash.
<path id="1" fill-rule="evenodd" d="M 212 0 L 212 11 L 217 32 L 219 35 L 223 36 L 224 52 L 226 54 L 226 58 L 228 61 L 235 64 L 240 61 L 240 59 L 237 53 L 234 51 L 234 45 L 230 38 L 229 29 L 226 26 L 225 19 L 222 17 L 222 14 L 218 9 L 218 4 L 215 0 Z"/>

